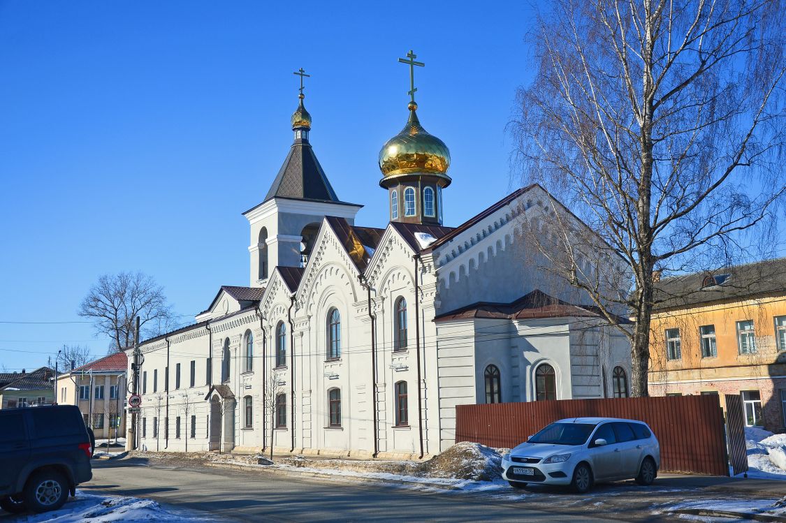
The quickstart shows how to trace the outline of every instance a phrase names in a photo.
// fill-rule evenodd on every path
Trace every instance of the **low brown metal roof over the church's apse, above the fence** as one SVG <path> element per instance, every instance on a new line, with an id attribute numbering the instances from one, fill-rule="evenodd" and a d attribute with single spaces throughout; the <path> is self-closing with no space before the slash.
<path id="1" fill-rule="evenodd" d="M 597 307 L 573 305 L 535 289 L 511 303 L 477 302 L 435 316 L 434 321 L 466 320 L 470 318 L 499 320 L 531 320 L 564 316 L 601 317 Z M 630 323 L 618 317 L 620 323 Z"/>

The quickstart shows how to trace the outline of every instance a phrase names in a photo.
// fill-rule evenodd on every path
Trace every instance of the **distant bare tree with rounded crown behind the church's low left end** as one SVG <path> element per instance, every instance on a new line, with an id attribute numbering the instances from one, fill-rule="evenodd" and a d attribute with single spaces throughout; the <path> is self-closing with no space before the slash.
<path id="1" fill-rule="evenodd" d="M 134 345 L 136 316 L 140 318 L 140 338 L 160 335 L 175 327 L 175 316 L 163 287 L 141 272 L 98 278 L 79 305 L 79 316 L 91 318 L 99 334 L 112 338 L 109 353 Z"/>

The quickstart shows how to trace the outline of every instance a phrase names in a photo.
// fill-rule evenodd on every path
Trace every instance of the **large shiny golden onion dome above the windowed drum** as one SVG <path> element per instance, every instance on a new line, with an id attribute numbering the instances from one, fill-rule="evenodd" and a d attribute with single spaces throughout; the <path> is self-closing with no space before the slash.
<path id="1" fill-rule="evenodd" d="M 417 119 L 417 104 L 410 102 L 410 119 L 402 131 L 388 140 L 380 151 L 380 170 L 385 178 L 399 174 L 437 174 L 446 178 L 450 151 L 445 142 L 429 134 Z M 383 179 L 384 181 L 384 179 Z"/>

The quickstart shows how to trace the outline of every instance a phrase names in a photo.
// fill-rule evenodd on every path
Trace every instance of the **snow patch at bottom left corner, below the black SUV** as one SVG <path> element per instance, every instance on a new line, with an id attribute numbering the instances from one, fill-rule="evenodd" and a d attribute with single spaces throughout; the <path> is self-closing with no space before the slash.
<path id="1" fill-rule="evenodd" d="M 214 521 L 193 513 L 173 513 L 161 507 L 152 499 L 132 498 L 129 496 L 97 496 L 82 490 L 60 510 L 43 514 L 21 515 L 13 523 L 141 523 L 142 521 L 163 521 L 164 523 L 185 523 L 185 521 Z"/>

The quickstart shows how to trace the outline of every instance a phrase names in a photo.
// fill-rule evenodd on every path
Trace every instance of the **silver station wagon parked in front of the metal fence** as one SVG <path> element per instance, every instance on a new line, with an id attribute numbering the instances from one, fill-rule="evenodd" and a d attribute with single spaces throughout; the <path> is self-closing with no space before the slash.
<path id="1" fill-rule="evenodd" d="M 560 419 L 502 456 L 502 477 L 527 483 L 570 485 L 635 479 L 651 485 L 660 468 L 660 444 L 645 422 L 617 418 Z"/>

